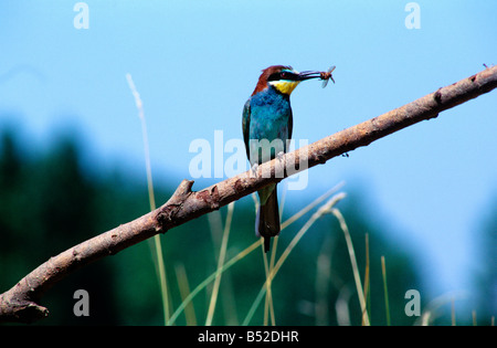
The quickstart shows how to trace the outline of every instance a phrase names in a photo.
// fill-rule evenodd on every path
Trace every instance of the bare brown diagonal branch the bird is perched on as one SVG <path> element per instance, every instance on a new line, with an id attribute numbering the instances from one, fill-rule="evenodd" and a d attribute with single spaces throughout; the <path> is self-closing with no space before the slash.
<path id="1" fill-rule="evenodd" d="M 47 316 L 39 304 L 54 284 L 91 262 L 113 255 L 158 233 L 247 196 L 256 190 L 319 164 L 367 146 L 396 130 L 473 99 L 497 87 L 497 66 L 440 88 L 387 114 L 341 130 L 321 140 L 263 164 L 256 176 L 246 171 L 201 191 L 191 191 L 193 181 L 183 180 L 160 208 L 108 232 L 102 233 L 49 261 L 0 295 L 0 320 L 31 323 Z"/>

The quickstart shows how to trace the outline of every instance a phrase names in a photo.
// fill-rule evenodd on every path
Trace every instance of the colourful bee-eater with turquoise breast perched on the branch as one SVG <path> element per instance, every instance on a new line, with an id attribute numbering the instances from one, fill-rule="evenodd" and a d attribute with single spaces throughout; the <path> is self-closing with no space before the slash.
<path id="1" fill-rule="evenodd" d="M 299 73 L 292 66 L 284 65 L 263 70 L 254 92 L 243 107 L 243 140 L 252 167 L 286 152 L 293 127 L 289 95 L 302 81 L 330 78 L 330 74 L 322 74 Z M 264 238 L 264 251 L 267 252 L 271 238 L 279 234 L 276 183 L 258 190 L 257 193 L 260 207 L 255 219 L 255 233 Z"/>

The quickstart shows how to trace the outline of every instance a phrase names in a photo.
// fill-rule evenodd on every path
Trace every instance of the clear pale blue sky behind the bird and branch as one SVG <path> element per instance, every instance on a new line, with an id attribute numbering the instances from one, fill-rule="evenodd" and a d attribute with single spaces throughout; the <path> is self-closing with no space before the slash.
<path id="1" fill-rule="evenodd" d="M 337 66 L 335 85 L 310 81 L 292 95 L 294 138 L 311 143 L 497 63 L 496 1 L 416 1 L 412 30 L 408 2 L 88 0 L 89 28 L 77 30 L 76 1 L 2 1 L 0 127 L 22 126 L 28 148 L 82 131 L 87 166 L 145 180 L 130 73 L 154 179 L 173 186 L 190 177 L 192 140 L 241 138 L 243 104 L 268 65 Z M 313 168 L 287 204 L 359 186 L 370 214 L 423 260 L 434 295 L 469 289 L 475 235 L 497 194 L 496 106 L 494 91 Z"/>

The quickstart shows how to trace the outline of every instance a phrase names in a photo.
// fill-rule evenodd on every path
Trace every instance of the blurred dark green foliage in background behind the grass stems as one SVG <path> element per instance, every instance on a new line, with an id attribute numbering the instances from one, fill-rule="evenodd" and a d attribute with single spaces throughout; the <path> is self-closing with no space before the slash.
<path id="1" fill-rule="evenodd" d="M 13 129 L 0 137 L 0 293 L 49 257 L 149 209 L 145 182 L 117 171 L 96 175 L 95 169 L 91 172 L 82 168 L 82 150 L 70 137 L 61 137 L 44 154 L 22 150 Z M 173 187 L 155 189 L 160 204 Z M 368 221 L 360 197 L 349 194 L 338 208 L 347 220 L 362 281 L 364 238 L 369 235 L 371 324 L 385 325 L 380 264 L 384 255 L 392 325 L 412 325 L 416 317 L 404 314 L 404 294 L 411 288 L 423 293 L 415 260 L 410 251 L 387 240 L 381 225 Z M 179 270 L 186 271 L 188 284 L 182 285 L 190 291 L 215 271 L 225 213 L 223 208 L 161 235 L 172 310 L 181 303 Z M 281 250 L 309 215 L 282 233 Z M 284 220 L 287 218 L 285 213 Z M 254 204 L 247 197 L 235 203 L 226 260 L 255 241 L 253 225 Z M 491 276 L 495 282 L 495 268 Z M 264 281 L 260 250 L 225 272 L 213 324 L 241 324 Z M 489 284 L 488 278 L 482 282 Z M 73 314 L 73 294 L 80 288 L 89 293 L 88 317 Z M 204 324 L 211 288 L 208 286 L 194 298 L 194 321 L 189 324 Z M 277 325 L 361 324 L 343 233 L 332 215 L 320 219 L 290 254 L 273 282 L 273 298 Z M 50 309 L 50 316 L 38 325 L 162 325 L 151 241 L 70 275 L 46 293 L 42 304 Z M 177 324 L 187 324 L 184 314 Z M 251 324 L 263 324 L 263 305 Z"/>

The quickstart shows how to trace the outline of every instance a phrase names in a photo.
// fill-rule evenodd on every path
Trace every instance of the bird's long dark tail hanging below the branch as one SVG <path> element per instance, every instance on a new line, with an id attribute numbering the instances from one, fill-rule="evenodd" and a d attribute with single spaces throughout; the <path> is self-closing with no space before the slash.
<path id="1" fill-rule="evenodd" d="M 261 204 L 255 219 L 255 233 L 264 238 L 264 252 L 271 246 L 271 239 L 279 234 L 279 211 L 276 187 L 271 192 L 265 204 Z"/>

